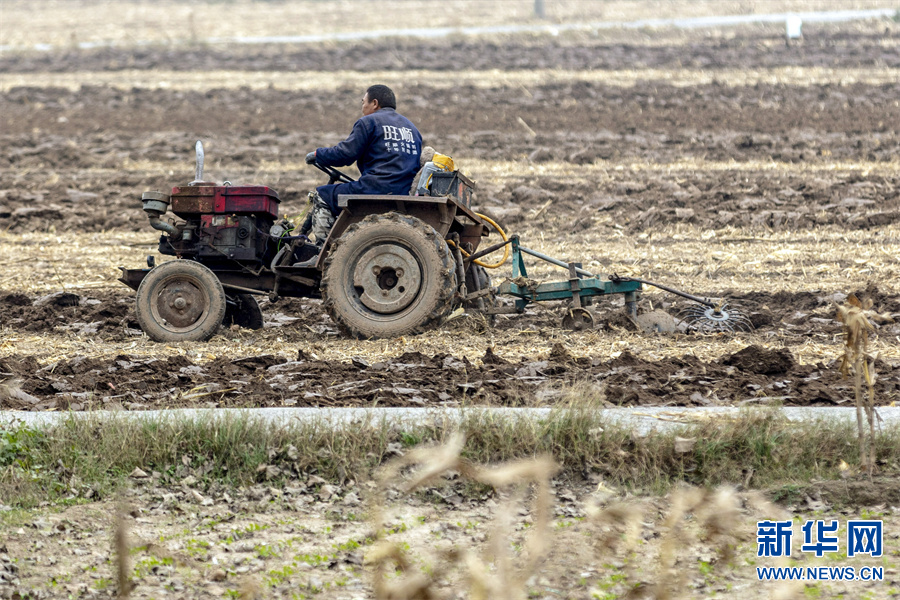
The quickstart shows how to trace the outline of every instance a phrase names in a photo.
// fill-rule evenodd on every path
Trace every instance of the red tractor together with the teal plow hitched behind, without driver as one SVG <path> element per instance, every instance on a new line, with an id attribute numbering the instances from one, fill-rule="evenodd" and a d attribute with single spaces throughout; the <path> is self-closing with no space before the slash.
<path id="1" fill-rule="evenodd" d="M 645 331 L 735 333 L 750 320 L 722 300 L 701 298 L 637 277 L 600 275 L 581 262 L 564 261 L 521 243 L 471 207 L 475 184 L 457 171 L 434 173 L 427 195 L 341 195 L 340 214 L 323 245 L 299 235 L 296 220 L 279 217 L 278 193 L 264 185 L 203 179 L 204 151 L 196 144 L 194 180 L 171 193 L 147 191 L 142 206 L 161 232 L 158 251 L 174 257 L 147 267 L 120 267 L 119 279 L 136 291 L 142 330 L 158 342 L 204 341 L 223 324 L 263 326 L 257 296 L 321 298 L 331 319 L 356 338 L 416 334 L 458 309 L 521 314 L 529 304 L 565 304 L 560 325 L 594 327 L 587 308 L 603 296 L 621 295 L 626 315 Z M 352 181 L 314 163 L 329 183 Z M 168 220 L 167 215 L 176 219 Z M 483 247 L 496 232 L 501 240 Z M 482 259 L 502 251 L 495 263 Z M 558 281 L 528 276 L 526 257 L 565 270 Z M 488 269 L 511 259 L 512 271 L 496 287 Z M 679 317 L 638 313 L 647 286 L 689 301 Z M 512 303 L 501 303 L 509 298 Z"/>

